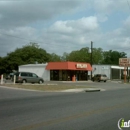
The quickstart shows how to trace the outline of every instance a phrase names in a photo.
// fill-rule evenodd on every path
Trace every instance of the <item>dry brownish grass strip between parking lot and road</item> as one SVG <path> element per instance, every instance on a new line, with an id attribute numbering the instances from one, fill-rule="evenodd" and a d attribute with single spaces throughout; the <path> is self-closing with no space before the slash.
<path id="1" fill-rule="evenodd" d="M 23 88 L 23 89 L 31 89 L 31 90 L 40 90 L 40 91 L 60 91 L 66 89 L 77 89 L 77 88 L 90 88 L 89 86 L 76 86 L 76 85 L 66 85 L 66 84 L 58 84 L 58 85 L 37 85 L 37 84 L 2 84 L 0 86 L 7 86 L 13 88 Z"/>

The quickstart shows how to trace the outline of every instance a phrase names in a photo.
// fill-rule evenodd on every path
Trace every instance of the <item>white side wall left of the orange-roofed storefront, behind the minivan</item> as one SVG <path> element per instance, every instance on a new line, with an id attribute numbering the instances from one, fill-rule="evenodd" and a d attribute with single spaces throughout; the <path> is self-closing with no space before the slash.
<path id="1" fill-rule="evenodd" d="M 47 64 L 28 64 L 19 66 L 19 72 L 32 72 L 42 77 L 44 81 L 50 81 L 50 70 L 46 70 Z"/>

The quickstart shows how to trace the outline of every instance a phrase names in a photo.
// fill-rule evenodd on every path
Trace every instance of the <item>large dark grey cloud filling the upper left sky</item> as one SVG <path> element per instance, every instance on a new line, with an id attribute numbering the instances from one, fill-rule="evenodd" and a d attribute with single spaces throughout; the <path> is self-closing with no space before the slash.
<path id="1" fill-rule="evenodd" d="M 0 4 L 0 28 L 27 26 L 37 21 L 50 20 L 60 14 L 76 11 L 84 0 L 6 1 Z"/>

